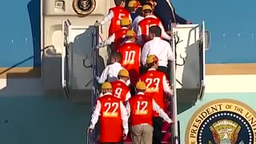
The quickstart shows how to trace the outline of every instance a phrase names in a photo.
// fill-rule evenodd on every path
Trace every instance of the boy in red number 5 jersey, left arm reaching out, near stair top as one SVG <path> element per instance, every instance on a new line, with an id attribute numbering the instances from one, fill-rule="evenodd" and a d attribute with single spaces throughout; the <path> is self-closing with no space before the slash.
<path id="1" fill-rule="evenodd" d="M 130 21 L 132 21 L 130 11 L 125 9 L 126 0 L 114 0 L 114 3 L 116 6 L 110 8 L 109 14 L 107 14 L 101 22 L 95 23 L 95 26 L 102 26 L 111 20 L 109 36 L 114 34 L 115 31 L 121 29 L 120 21 L 122 18 L 130 18 Z"/>

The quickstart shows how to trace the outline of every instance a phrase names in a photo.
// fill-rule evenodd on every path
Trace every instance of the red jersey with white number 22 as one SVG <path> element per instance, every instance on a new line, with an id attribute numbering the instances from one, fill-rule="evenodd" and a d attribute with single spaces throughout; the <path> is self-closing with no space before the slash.
<path id="1" fill-rule="evenodd" d="M 119 98 L 113 95 L 105 95 L 98 98 L 101 103 L 100 110 L 100 142 L 121 142 L 122 140 L 122 118 L 121 107 L 122 104 Z"/>

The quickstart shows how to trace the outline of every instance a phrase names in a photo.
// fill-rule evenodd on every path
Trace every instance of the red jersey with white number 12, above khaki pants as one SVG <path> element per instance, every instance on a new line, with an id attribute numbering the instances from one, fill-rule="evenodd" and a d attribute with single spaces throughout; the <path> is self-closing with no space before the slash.
<path id="1" fill-rule="evenodd" d="M 129 99 L 131 126 L 148 123 L 152 126 L 153 98 L 144 94 L 134 95 Z"/>

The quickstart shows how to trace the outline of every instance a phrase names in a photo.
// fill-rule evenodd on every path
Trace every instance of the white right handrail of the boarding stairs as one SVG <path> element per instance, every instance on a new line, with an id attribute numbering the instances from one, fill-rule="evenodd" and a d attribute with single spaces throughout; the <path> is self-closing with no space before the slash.
<path id="1" fill-rule="evenodd" d="M 171 26 L 171 22 L 169 24 L 170 26 L 170 30 L 172 32 L 172 40 L 170 41 L 170 45 L 171 45 L 171 49 L 173 51 L 173 57 L 174 57 L 174 61 L 171 62 L 171 66 L 170 66 L 170 82 L 171 82 L 171 86 L 173 89 L 173 97 L 171 98 L 171 105 L 172 105 L 172 115 L 173 115 L 173 120 L 174 120 L 174 125 L 172 126 L 172 143 L 174 144 L 178 144 L 178 119 L 177 119 L 177 90 L 176 90 L 176 45 L 174 42 L 174 37 L 175 34 L 173 33 L 172 30 L 172 26 Z"/>

